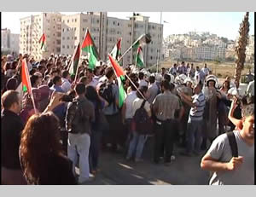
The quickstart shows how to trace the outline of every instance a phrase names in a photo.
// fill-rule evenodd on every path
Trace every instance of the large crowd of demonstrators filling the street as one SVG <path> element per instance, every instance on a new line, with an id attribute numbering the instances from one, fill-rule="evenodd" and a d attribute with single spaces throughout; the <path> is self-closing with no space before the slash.
<path id="1" fill-rule="evenodd" d="M 24 59 L 36 111 L 32 96 L 21 89 Z M 120 107 L 111 65 L 101 63 L 91 70 L 83 59 L 74 81 L 68 72 L 71 61 L 65 55 L 38 62 L 29 55 L 16 59 L 2 55 L 3 184 L 84 184 L 99 172 L 102 149 L 121 151 L 125 159 L 142 162 L 148 137 L 154 138 L 155 164 L 172 164 L 175 144 L 188 157 L 210 147 L 201 167 L 217 171 L 212 184 L 254 183 L 254 81 L 241 98 L 237 84 L 227 76 L 219 85 L 207 64 L 200 69 L 182 62 L 169 70 L 163 67 L 160 73 L 129 65 L 123 68 L 126 97 Z M 243 161 L 226 153 L 230 149 L 225 133 L 230 130 L 236 130 Z M 236 173 L 235 165 L 242 162 L 244 167 Z"/>

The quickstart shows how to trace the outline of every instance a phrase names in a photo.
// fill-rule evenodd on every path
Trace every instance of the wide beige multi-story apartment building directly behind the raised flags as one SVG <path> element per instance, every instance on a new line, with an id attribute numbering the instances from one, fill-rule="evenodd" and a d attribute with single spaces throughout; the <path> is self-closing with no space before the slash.
<path id="1" fill-rule="evenodd" d="M 121 52 L 131 46 L 143 33 L 151 36 L 151 43 L 143 46 L 144 62 L 147 66 L 157 62 L 158 55 L 160 60 L 163 54 L 160 49 L 160 42 L 163 38 L 163 25 L 148 22 L 148 17 L 135 14 L 130 20 L 122 20 L 108 17 L 107 13 L 87 13 L 62 15 L 61 20 L 61 54 L 73 55 L 75 46 L 84 40 L 86 28 L 89 29 L 96 48 L 100 51 L 102 61 L 108 60 L 108 53 L 111 52 L 115 43 L 122 38 Z M 102 27 L 102 28 L 100 28 Z M 134 64 L 137 51 L 129 51 L 123 58 L 123 65 Z M 85 55 L 85 52 L 82 53 Z"/>

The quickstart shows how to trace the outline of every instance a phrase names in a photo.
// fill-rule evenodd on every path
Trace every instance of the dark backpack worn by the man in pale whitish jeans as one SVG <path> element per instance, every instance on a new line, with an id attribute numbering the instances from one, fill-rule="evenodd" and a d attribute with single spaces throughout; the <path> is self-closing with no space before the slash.
<path id="1" fill-rule="evenodd" d="M 83 107 L 80 101 L 73 101 L 72 107 L 74 110 L 74 116 L 72 119 L 71 133 L 84 133 L 84 122 L 87 121 L 84 117 Z"/>

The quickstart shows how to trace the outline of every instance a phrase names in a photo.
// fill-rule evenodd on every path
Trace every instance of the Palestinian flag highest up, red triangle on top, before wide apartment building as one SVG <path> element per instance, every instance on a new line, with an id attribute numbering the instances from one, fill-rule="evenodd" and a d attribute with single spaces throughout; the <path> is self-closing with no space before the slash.
<path id="1" fill-rule="evenodd" d="M 96 61 L 99 61 L 99 55 L 93 39 L 90 37 L 90 32 L 88 29 L 85 32 L 84 42 L 82 43 L 82 50 L 88 53 L 89 68 L 94 70 L 94 68 L 96 67 Z"/>

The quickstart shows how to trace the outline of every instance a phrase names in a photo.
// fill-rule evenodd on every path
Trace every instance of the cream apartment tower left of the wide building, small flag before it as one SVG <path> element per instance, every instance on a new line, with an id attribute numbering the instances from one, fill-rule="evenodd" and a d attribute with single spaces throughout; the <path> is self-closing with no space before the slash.
<path id="1" fill-rule="evenodd" d="M 45 48 L 41 49 L 39 39 L 45 33 Z M 41 13 L 20 19 L 20 53 L 30 54 L 36 60 L 51 53 L 61 53 L 61 14 Z"/>

